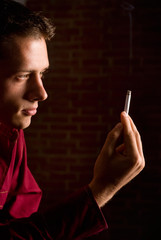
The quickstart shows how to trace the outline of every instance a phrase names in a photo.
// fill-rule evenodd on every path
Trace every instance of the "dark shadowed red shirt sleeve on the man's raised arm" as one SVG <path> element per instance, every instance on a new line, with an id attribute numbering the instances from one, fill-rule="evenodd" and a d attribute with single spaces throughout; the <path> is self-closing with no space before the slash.
<path id="1" fill-rule="evenodd" d="M 29 218 L 14 219 L 3 211 L 0 212 L 1 240 L 82 240 L 107 229 L 88 186 L 44 216 L 37 212 Z"/>

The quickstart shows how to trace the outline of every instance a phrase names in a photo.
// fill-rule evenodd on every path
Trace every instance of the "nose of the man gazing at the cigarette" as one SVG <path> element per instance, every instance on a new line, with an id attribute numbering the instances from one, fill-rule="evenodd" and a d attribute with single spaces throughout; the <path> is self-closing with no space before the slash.
<path id="1" fill-rule="evenodd" d="M 30 79 L 26 97 L 29 101 L 44 101 L 47 99 L 48 94 L 39 74 L 32 76 Z"/>

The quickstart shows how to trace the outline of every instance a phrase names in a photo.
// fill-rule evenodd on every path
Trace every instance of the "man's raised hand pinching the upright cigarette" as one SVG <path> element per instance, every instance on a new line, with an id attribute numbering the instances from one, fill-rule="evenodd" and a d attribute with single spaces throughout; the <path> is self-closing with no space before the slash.
<path id="1" fill-rule="evenodd" d="M 120 144 L 120 141 L 122 143 Z M 109 132 L 96 160 L 89 184 L 99 207 L 138 175 L 145 166 L 142 143 L 132 119 L 121 113 L 121 123 Z"/>

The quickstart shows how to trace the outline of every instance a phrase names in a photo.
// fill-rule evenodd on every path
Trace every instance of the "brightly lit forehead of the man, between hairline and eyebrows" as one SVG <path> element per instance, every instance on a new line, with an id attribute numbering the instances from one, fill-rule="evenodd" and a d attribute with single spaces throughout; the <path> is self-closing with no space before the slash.
<path id="1" fill-rule="evenodd" d="M 6 42 L 4 50 L 4 57 L 0 61 L 10 69 L 33 70 L 49 66 L 46 42 L 43 38 L 13 37 Z"/>

